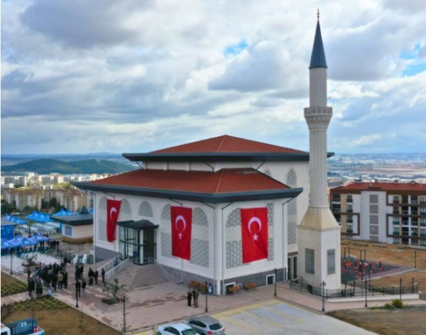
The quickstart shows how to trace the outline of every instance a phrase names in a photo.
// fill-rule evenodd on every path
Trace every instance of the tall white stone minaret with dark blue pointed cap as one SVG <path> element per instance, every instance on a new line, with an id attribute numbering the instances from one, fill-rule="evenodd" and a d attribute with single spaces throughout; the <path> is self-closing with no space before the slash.
<path id="1" fill-rule="evenodd" d="M 322 45 L 320 11 L 310 60 L 310 106 L 305 119 L 310 141 L 310 204 L 297 226 L 299 274 L 310 285 L 340 288 L 340 226 L 327 203 L 327 62 Z"/>

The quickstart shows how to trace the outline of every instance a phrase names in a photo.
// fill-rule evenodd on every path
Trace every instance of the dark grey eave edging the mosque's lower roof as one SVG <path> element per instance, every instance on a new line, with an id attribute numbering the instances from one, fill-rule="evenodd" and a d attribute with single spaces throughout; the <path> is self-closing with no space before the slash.
<path id="1" fill-rule="evenodd" d="M 115 192 L 119 194 L 138 195 L 163 199 L 180 199 L 196 202 L 211 202 L 219 204 L 222 202 L 239 202 L 251 200 L 295 198 L 302 193 L 302 187 L 289 188 L 285 190 L 261 190 L 248 192 L 227 192 L 227 193 L 201 193 L 176 190 L 158 190 L 143 187 L 100 185 L 90 182 L 71 182 L 72 185 L 82 190 L 98 192 Z"/>

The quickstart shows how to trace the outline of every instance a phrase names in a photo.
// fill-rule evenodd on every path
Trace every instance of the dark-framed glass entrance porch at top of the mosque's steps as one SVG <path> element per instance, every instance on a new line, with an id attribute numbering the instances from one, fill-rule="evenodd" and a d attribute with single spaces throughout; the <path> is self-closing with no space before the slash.
<path id="1" fill-rule="evenodd" d="M 156 229 L 158 225 L 148 220 L 117 222 L 119 226 L 120 258 L 132 258 L 133 264 L 154 263 L 156 254 Z"/>

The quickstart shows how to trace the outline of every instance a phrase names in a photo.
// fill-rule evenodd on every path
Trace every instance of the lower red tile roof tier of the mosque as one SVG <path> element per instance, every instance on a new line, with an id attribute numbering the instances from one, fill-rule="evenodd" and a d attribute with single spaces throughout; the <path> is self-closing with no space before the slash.
<path id="1" fill-rule="evenodd" d="M 135 170 L 90 182 L 92 185 L 141 187 L 153 190 L 221 194 L 290 187 L 253 169 L 224 169 L 217 172 L 182 170 Z"/>

